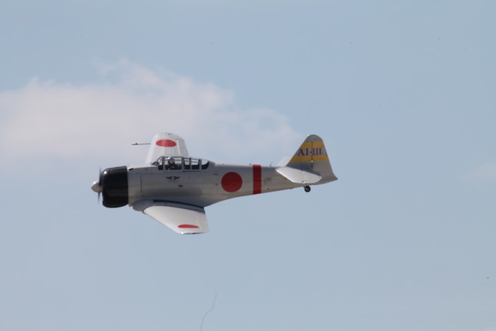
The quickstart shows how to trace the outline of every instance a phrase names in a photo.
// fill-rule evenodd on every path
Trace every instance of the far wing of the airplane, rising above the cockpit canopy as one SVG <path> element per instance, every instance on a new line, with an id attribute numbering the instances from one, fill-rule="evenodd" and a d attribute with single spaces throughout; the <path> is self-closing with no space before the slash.
<path id="1" fill-rule="evenodd" d="M 155 134 L 148 150 L 146 163 L 151 163 L 159 156 L 184 156 L 189 157 L 185 139 L 169 132 Z"/>

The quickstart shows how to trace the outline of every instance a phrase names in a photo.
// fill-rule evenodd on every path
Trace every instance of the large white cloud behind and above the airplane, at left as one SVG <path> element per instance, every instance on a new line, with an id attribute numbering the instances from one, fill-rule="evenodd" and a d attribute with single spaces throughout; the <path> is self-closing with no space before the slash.
<path id="1" fill-rule="evenodd" d="M 191 155 L 232 155 L 223 160 L 231 162 L 260 152 L 276 152 L 279 158 L 298 145 L 300 135 L 285 115 L 239 109 L 233 93 L 214 84 L 157 73 L 127 60 L 98 68 L 103 80 L 95 83 L 33 78 L 19 90 L 1 92 L 2 159 L 110 159 L 134 148 L 141 158 L 133 162 L 139 163 L 147 150 L 130 143 L 149 142 L 164 131 L 182 135 Z"/>

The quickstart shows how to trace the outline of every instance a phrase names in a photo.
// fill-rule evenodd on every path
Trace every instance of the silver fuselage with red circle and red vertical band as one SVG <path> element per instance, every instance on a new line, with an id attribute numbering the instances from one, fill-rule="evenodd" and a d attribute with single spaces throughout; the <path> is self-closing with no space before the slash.
<path id="1" fill-rule="evenodd" d="M 159 169 L 149 164 L 128 166 L 129 205 L 154 199 L 204 207 L 226 199 L 304 186 L 288 181 L 276 169 L 212 161 L 206 169 L 197 170 Z"/>

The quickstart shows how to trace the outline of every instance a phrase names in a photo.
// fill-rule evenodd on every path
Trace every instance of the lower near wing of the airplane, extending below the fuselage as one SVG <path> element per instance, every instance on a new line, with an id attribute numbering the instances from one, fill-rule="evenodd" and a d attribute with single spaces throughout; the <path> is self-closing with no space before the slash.
<path id="1" fill-rule="evenodd" d="M 133 207 L 179 234 L 209 231 L 205 210 L 202 207 L 156 200 L 136 201 Z"/>

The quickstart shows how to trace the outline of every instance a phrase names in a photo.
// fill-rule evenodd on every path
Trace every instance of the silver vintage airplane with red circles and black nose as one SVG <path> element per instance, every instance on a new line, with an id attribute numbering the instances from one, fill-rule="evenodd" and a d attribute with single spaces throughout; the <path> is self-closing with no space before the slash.
<path id="1" fill-rule="evenodd" d="M 125 205 L 179 234 L 209 231 L 205 207 L 226 199 L 320 185 L 337 180 L 324 142 L 309 135 L 277 166 L 217 163 L 190 157 L 177 134 L 156 134 L 144 164 L 105 169 L 91 189 L 103 205 Z"/>

